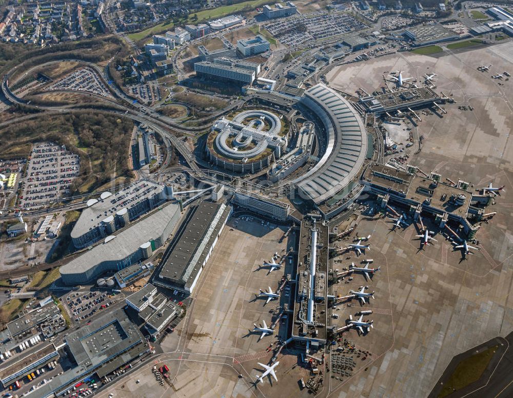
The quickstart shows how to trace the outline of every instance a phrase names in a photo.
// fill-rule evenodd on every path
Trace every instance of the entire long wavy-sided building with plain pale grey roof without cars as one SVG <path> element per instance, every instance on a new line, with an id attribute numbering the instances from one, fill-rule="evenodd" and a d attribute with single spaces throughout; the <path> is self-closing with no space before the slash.
<path id="1" fill-rule="evenodd" d="M 161 247 L 180 220 L 180 206 L 169 204 L 141 221 L 105 238 L 60 268 L 67 285 L 91 282 L 107 271 L 120 271 L 145 260 Z"/>

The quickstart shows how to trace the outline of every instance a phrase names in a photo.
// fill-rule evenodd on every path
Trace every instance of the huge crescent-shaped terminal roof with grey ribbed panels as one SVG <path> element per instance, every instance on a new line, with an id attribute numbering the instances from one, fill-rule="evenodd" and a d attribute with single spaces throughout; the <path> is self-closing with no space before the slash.
<path id="1" fill-rule="evenodd" d="M 302 192 L 320 204 L 358 174 L 367 153 L 367 133 L 349 102 L 323 84 L 306 90 L 301 101 L 323 122 L 327 144 L 317 165 L 296 182 Z"/>

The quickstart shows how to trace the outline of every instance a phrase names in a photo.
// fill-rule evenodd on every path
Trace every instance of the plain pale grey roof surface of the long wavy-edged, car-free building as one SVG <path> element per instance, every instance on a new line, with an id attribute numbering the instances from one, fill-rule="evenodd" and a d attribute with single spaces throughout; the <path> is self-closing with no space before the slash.
<path id="1" fill-rule="evenodd" d="M 168 204 L 141 221 L 131 224 L 128 228 L 115 235 L 113 240 L 96 245 L 91 250 L 87 250 L 84 254 L 74 258 L 68 264 L 63 265 L 60 269 L 61 275 L 86 272 L 102 262 L 123 260 L 143 243 L 148 242 L 151 238 L 159 237 L 176 212 L 180 213 L 180 206 Z"/>

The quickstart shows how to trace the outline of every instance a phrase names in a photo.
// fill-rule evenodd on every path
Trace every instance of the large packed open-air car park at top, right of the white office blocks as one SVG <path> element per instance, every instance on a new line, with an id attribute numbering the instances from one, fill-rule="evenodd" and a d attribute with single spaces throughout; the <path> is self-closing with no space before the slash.
<path id="1" fill-rule="evenodd" d="M 265 26 L 269 33 L 279 39 L 280 43 L 287 46 L 297 46 L 305 42 L 326 39 L 365 27 L 351 15 L 327 14 L 325 12 L 274 22 Z"/>

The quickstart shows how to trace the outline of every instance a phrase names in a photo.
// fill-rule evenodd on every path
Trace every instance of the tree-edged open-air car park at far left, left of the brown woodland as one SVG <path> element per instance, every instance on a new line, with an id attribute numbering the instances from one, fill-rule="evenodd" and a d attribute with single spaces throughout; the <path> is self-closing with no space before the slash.
<path id="1" fill-rule="evenodd" d="M 80 171 L 78 155 L 53 143 L 37 144 L 32 149 L 23 193 L 19 197 L 24 208 L 40 207 L 69 193 L 69 186 Z"/>

